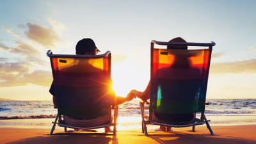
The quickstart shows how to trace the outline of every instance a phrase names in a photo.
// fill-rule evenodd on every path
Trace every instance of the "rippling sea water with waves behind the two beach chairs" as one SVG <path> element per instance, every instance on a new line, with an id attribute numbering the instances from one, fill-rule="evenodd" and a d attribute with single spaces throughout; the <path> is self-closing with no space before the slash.
<path id="1" fill-rule="evenodd" d="M 208 115 L 256 115 L 256 99 L 207 100 Z M 148 115 L 149 105 L 145 105 Z M 0 101 L 0 119 L 53 118 L 57 109 L 51 101 Z M 140 116 L 139 100 L 120 105 L 118 116 Z"/>

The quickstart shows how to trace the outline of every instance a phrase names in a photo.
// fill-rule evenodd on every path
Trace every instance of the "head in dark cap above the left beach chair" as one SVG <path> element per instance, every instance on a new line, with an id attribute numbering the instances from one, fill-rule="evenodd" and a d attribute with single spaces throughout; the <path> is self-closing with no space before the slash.
<path id="1" fill-rule="evenodd" d="M 83 38 L 76 44 L 76 54 L 96 55 L 99 52 L 91 38 Z"/>

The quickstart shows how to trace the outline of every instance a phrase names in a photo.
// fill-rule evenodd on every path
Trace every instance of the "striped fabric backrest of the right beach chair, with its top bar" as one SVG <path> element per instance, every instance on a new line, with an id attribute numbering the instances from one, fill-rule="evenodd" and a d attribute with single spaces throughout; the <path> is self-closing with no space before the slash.
<path id="1" fill-rule="evenodd" d="M 206 49 L 157 49 L 190 45 Z M 212 43 L 151 43 L 150 113 L 185 114 L 205 110 Z"/>

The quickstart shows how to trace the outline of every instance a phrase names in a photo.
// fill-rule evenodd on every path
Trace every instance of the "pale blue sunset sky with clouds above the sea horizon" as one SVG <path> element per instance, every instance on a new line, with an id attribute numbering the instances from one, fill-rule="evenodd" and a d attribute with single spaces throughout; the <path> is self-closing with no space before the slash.
<path id="1" fill-rule="evenodd" d="M 256 1 L 0 1 L 0 98 L 51 100 L 46 56 L 75 54 L 92 38 L 111 51 L 117 95 L 143 91 L 150 77 L 150 42 L 182 37 L 216 42 L 207 99 L 256 98 Z"/>

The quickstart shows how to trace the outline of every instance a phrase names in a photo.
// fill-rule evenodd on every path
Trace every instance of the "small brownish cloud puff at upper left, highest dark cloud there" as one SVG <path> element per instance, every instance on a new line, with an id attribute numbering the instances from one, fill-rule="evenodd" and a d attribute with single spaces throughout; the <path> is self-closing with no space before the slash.
<path id="1" fill-rule="evenodd" d="M 27 23 L 28 31 L 25 35 L 29 40 L 33 40 L 45 47 L 54 47 L 56 42 L 60 41 L 58 34 L 51 27 L 39 26 L 37 24 Z"/>

